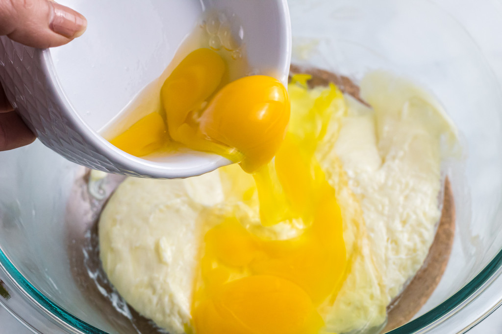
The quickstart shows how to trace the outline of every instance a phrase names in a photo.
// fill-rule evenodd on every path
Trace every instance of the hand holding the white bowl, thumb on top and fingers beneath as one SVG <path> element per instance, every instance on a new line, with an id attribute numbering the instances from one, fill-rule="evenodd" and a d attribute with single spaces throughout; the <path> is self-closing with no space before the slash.
<path id="1" fill-rule="evenodd" d="M 66 44 L 85 31 L 87 21 L 50 0 L 0 0 L 0 36 L 34 48 Z M 35 135 L 14 111 L 0 83 L 0 151 L 28 145 Z"/>

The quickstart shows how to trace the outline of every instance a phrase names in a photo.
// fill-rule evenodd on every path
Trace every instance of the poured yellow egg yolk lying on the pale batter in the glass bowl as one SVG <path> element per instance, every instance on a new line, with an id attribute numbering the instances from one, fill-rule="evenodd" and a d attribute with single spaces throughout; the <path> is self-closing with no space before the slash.
<path id="1" fill-rule="evenodd" d="M 323 326 L 317 306 L 336 295 L 348 269 L 335 191 L 314 157 L 325 129 L 309 125 L 323 119 L 337 99 L 342 97 L 334 86 L 320 96 L 308 124 L 290 130 L 271 166 L 274 173 L 258 178 L 273 179 L 266 191 L 280 183 L 288 215 L 300 217 L 305 231 L 293 239 L 265 240 L 230 212 L 206 233 L 192 306 L 196 333 L 308 334 Z"/>

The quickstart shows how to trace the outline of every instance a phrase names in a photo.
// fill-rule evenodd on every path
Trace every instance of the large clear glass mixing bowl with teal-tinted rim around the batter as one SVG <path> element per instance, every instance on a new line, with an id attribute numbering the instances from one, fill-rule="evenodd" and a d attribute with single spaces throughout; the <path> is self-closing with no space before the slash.
<path id="1" fill-rule="evenodd" d="M 462 158 L 444 169 L 456 204 L 451 257 L 427 303 L 392 332 L 468 330 L 502 302 L 502 3 L 289 5 L 295 64 L 356 82 L 371 69 L 401 74 L 433 92 L 458 126 Z M 0 154 L 0 303 L 33 331 L 155 331 L 99 268 L 97 214 L 119 181 L 89 178 L 40 143 Z"/>

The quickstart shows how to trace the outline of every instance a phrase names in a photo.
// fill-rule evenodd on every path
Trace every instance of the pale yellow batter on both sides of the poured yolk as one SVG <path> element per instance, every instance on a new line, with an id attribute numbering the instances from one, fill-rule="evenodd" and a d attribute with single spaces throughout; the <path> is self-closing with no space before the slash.
<path id="1" fill-rule="evenodd" d="M 320 92 L 310 91 L 310 101 Z M 320 306 L 325 332 L 384 323 L 386 306 L 420 268 L 432 243 L 441 159 L 456 143 L 454 127 L 435 99 L 407 81 L 370 73 L 361 82 L 361 96 L 373 108 L 346 97 L 347 108 L 333 109 L 336 115 L 317 152 L 337 189 L 347 249 L 357 246 L 340 292 Z M 305 97 L 295 98 L 292 93 L 293 123 L 308 104 Z M 205 231 L 200 214 L 224 207 L 253 186 L 237 166 L 185 180 L 127 179 L 99 222 L 101 260 L 110 281 L 144 316 L 173 334 L 183 333 L 191 326 Z M 247 228 L 259 225 L 257 200 L 240 208 Z M 267 237 L 298 233 L 279 224 Z"/>

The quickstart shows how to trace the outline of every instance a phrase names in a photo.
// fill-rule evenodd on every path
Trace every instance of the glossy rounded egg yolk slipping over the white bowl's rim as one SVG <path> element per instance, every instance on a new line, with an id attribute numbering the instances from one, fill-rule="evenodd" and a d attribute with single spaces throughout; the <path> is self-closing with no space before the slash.
<path id="1" fill-rule="evenodd" d="M 221 89 L 200 119 L 201 132 L 235 147 L 242 169 L 253 172 L 267 164 L 281 145 L 289 122 L 286 88 L 267 76 L 238 79 Z"/>

